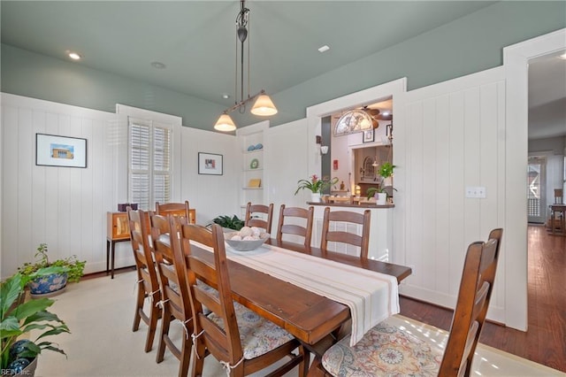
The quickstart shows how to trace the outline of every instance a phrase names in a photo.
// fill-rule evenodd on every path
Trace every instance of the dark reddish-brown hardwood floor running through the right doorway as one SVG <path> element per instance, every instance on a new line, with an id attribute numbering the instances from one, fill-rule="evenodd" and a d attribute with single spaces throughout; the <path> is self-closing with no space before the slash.
<path id="1" fill-rule="evenodd" d="M 530 225 L 528 245 L 528 331 L 486 323 L 479 342 L 566 372 L 566 237 Z M 445 330 L 452 321 L 451 310 L 408 297 L 401 314 Z"/>

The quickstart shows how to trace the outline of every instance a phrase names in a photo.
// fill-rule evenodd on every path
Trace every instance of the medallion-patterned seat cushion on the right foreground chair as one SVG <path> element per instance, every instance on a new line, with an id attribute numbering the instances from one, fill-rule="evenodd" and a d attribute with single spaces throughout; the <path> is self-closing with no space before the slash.
<path id="1" fill-rule="evenodd" d="M 437 376 L 442 350 L 383 321 L 354 347 L 349 337 L 325 352 L 322 363 L 333 376 Z"/>

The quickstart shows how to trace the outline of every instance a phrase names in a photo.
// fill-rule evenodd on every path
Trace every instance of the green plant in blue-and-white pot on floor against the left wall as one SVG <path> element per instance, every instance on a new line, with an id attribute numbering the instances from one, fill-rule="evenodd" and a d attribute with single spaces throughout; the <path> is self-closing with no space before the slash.
<path id="1" fill-rule="evenodd" d="M 42 268 L 61 267 L 59 272 L 43 274 L 35 277 L 28 282 L 32 296 L 52 295 L 54 292 L 61 293 L 67 285 L 67 281 L 80 281 L 86 261 L 79 260 L 76 255 L 68 258 L 50 261 L 47 243 L 40 243 L 35 251 L 35 262 L 24 263 L 18 268 L 19 273 L 24 276 L 31 276 Z"/>

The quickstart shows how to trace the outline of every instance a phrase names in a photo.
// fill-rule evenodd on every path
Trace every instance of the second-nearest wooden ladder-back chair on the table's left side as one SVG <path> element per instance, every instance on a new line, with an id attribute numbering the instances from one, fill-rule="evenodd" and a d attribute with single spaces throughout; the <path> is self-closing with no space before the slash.
<path id="1" fill-rule="evenodd" d="M 180 360 L 179 376 L 185 377 L 190 364 L 190 347 L 193 334 L 193 311 L 189 298 L 187 286 L 187 266 L 184 258 L 174 260 L 172 243 L 175 242 L 177 232 L 171 232 L 171 219 L 173 216 L 151 215 L 151 238 L 157 265 L 157 273 L 161 283 L 161 332 L 159 333 L 159 345 L 157 347 L 157 363 L 164 360 L 165 348 L 171 351 L 175 358 Z M 183 218 L 185 220 L 185 218 Z M 186 220 L 185 220 L 186 221 Z M 173 224 L 174 228 L 177 228 Z M 180 337 L 180 348 L 173 342 L 169 335 L 171 322 L 179 320 L 183 325 L 185 334 Z"/>

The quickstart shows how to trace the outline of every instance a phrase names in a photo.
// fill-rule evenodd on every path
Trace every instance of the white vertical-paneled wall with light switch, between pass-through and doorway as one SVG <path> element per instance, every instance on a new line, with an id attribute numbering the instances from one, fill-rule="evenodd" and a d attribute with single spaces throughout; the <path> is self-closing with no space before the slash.
<path id="1" fill-rule="evenodd" d="M 408 93 L 407 152 L 395 160 L 406 177 L 408 296 L 454 306 L 467 246 L 504 226 L 502 75 L 493 69 Z M 466 197 L 467 187 L 485 187 L 486 198 Z M 492 318 L 503 311 L 504 273 L 498 270 Z"/>

